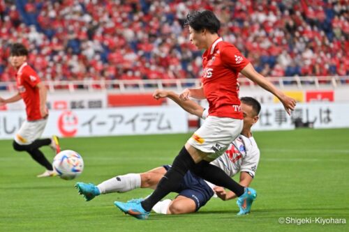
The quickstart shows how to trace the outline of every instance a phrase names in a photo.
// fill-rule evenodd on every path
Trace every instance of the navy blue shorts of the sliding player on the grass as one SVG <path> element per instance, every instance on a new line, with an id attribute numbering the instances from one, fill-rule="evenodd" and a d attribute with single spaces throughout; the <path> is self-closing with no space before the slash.
<path id="1" fill-rule="evenodd" d="M 170 169 L 170 165 L 164 165 L 163 167 L 166 170 Z M 214 195 L 214 191 L 207 185 L 205 180 L 191 173 L 191 171 L 186 173 L 184 179 L 181 181 L 181 185 L 179 185 L 179 189 L 175 192 L 178 192 L 181 196 L 193 199 L 196 205 L 196 211 L 202 206 L 205 206 L 207 201 Z"/>

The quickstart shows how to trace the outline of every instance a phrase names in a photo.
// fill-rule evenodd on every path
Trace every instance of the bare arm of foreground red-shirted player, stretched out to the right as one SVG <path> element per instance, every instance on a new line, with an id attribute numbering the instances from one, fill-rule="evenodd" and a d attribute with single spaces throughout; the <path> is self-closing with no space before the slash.
<path id="1" fill-rule="evenodd" d="M 251 65 L 251 63 L 248 63 L 248 65 L 246 65 L 245 68 L 241 70 L 241 73 L 248 79 L 251 79 L 251 81 L 257 83 L 265 90 L 269 91 L 270 93 L 273 93 L 276 96 L 276 98 L 279 98 L 288 114 L 290 114 L 290 111 L 295 109 L 295 99 L 288 97 L 288 95 L 285 95 L 283 92 L 277 89 L 274 86 L 274 84 L 272 84 L 272 82 L 269 82 L 269 80 L 260 75 L 260 73 L 258 73 L 255 70 L 255 68 L 253 68 L 253 65 Z"/>

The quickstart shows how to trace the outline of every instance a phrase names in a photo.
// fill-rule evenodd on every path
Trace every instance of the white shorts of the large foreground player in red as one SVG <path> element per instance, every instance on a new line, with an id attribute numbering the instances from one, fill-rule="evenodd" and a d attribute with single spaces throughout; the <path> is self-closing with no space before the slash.
<path id="1" fill-rule="evenodd" d="M 209 116 L 187 142 L 194 148 L 207 153 L 210 160 L 215 160 L 239 136 L 243 125 L 242 119 Z"/>

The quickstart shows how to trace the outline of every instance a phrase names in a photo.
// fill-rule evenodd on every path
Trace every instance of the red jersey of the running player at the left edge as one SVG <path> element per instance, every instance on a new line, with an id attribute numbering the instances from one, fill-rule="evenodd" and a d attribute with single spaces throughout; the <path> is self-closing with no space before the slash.
<path id="1" fill-rule="evenodd" d="M 35 70 L 27 63 L 20 66 L 16 74 L 17 88 L 24 100 L 27 111 L 27 120 L 34 121 L 42 119 L 40 114 L 40 96 L 36 85 L 40 83 L 40 78 Z"/>

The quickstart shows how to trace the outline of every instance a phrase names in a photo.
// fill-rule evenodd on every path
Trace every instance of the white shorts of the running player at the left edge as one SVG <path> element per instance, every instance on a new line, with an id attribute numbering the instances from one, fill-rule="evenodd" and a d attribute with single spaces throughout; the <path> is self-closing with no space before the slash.
<path id="1" fill-rule="evenodd" d="M 47 118 L 38 121 L 24 121 L 20 130 L 15 134 L 15 141 L 20 145 L 28 145 L 34 142 L 34 140 L 41 137 Z"/>

